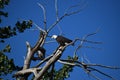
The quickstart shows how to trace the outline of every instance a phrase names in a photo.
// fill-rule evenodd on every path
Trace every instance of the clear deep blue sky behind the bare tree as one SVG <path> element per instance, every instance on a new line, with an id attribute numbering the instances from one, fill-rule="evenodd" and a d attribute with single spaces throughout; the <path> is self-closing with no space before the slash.
<path id="1" fill-rule="evenodd" d="M 55 21 L 54 0 L 11 0 L 5 11 L 8 11 L 9 17 L 3 19 L 2 26 L 12 25 L 19 19 L 33 20 L 36 24 L 43 28 L 43 14 L 42 9 L 37 3 L 42 3 L 47 8 L 47 20 L 49 27 Z M 65 9 L 71 5 L 75 5 L 81 0 L 58 0 L 59 15 L 61 16 Z M 64 18 L 60 22 L 63 34 L 70 38 L 82 38 L 88 33 L 94 32 L 98 27 L 100 31 L 88 38 L 88 40 L 101 41 L 103 44 L 93 45 L 85 44 L 93 47 L 101 48 L 101 50 L 83 48 L 78 52 L 81 57 L 87 56 L 91 63 L 98 63 L 110 66 L 120 66 L 120 1 L 119 0 L 82 0 L 87 2 L 80 13 Z M 83 4 L 81 2 L 81 4 Z M 82 6 L 81 6 L 82 7 Z M 75 9 L 73 9 L 75 10 Z M 35 28 L 35 27 L 33 27 Z M 57 27 L 53 29 L 50 34 L 59 34 Z M 14 58 L 17 65 L 23 65 L 23 56 L 26 55 L 25 42 L 29 41 L 33 46 L 38 39 L 39 31 L 27 30 L 25 33 L 12 37 L 7 40 L 12 46 L 12 53 L 8 54 L 10 58 Z M 5 44 L 4 44 L 5 46 Z M 49 55 L 55 49 L 55 43 L 46 44 L 47 54 Z M 52 49 L 51 49 L 52 48 Z M 73 55 L 73 47 L 69 47 L 64 52 L 62 58 L 68 55 Z M 101 68 L 100 68 L 101 69 Z M 120 70 L 101 69 L 117 80 L 120 80 Z M 96 74 L 98 75 L 98 74 Z M 88 76 L 82 69 L 75 68 L 70 73 L 70 78 L 67 80 L 94 80 Z M 104 76 L 98 75 L 102 80 L 110 80 Z"/>

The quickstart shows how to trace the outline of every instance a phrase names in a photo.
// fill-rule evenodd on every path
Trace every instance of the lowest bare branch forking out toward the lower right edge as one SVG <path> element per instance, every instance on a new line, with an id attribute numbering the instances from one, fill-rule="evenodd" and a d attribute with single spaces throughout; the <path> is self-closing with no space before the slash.
<path id="1" fill-rule="evenodd" d="M 78 66 L 81 67 L 85 70 L 86 73 L 90 74 L 92 77 L 94 77 L 97 80 L 101 80 L 100 78 L 98 78 L 97 76 L 93 75 L 91 72 L 96 71 L 106 77 L 111 78 L 112 80 L 115 80 L 112 76 L 98 70 L 95 68 L 92 68 L 92 66 L 97 66 L 97 67 L 104 67 L 104 68 L 108 68 L 108 69 L 120 69 L 118 67 L 112 67 L 112 66 L 105 66 L 105 65 L 101 65 L 101 64 L 86 64 L 84 62 L 79 62 L 79 61 L 74 61 L 74 60 L 58 60 L 58 62 L 62 63 L 62 64 L 66 64 L 66 65 L 71 65 L 71 66 Z"/>

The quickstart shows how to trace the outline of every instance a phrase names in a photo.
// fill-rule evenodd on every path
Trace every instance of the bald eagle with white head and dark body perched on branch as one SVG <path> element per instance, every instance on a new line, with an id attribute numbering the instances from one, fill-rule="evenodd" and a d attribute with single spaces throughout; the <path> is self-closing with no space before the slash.
<path id="1" fill-rule="evenodd" d="M 65 46 L 66 44 L 69 44 L 72 42 L 72 40 L 60 35 L 52 35 L 51 38 L 55 39 L 61 46 Z"/>

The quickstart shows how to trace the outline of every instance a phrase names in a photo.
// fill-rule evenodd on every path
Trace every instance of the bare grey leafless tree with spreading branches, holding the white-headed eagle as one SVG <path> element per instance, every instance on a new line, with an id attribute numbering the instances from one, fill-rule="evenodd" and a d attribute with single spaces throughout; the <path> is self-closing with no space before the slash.
<path id="1" fill-rule="evenodd" d="M 72 43 L 69 43 L 67 45 L 61 46 L 59 45 L 49 56 L 46 56 L 45 58 L 41 59 L 39 57 L 34 57 L 36 52 L 39 50 L 40 47 L 43 47 L 44 44 L 46 43 L 46 39 L 49 38 L 49 33 L 51 32 L 51 30 L 53 28 L 56 27 L 56 25 L 65 17 L 70 16 L 70 15 L 74 15 L 79 13 L 82 8 L 79 8 L 78 10 L 74 10 L 74 11 L 69 11 L 71 9 L 73 9 L 74 7 L 79 7 L 80 4 L 78 5 L 74 5 L 71 6 L 69 8 L 67 8 L 64 12 L 64 14 L 62 16 L 59 16 L 59 11 L 58 11 L 58 5 L 57 5 L 57 0 L 55 0 L 55 11 L 56 11 L 56 21 L 49 27 L 47 27 L 47 20 L 46 20 L 46 9 L 45 7 L 38 3 L 38 5 L 42 8 L 43 10 L 43 16 L 44 16 L 44 29 L 42 29 L 40 26 L 38 26 L 37 24 L 33 23 L 34 26 L 40 31 L 39 34 L 39 39 L 36 42 L 36 45 L 34 45 L 33 47 L 30 45 L 29 42 L 26 41 L 26 45 L 27 45 L 27 55 L 26 58 L 24 60 L 24 65 L 23 65 L 23 69 L 16 72 L 14 74 L 14 77 L 16 78 L 20 78 L 23 80 L 28 79 L 30 74 L 34 74 L 33 80 L 43 80 L 45 73 L 51 69 L 51 76 L 49 77 L 49 80 L 57 80 L 57 78 L 55 78 L 55 76 L 53 76 L 54 73 L 54 64 L 56 62 L 59 62 L 63 65 L 67 65 L 71 68 L 74 68 L 75 66 L 82 68 L 87 74 L 89 74 L 90 76 L 94 77 L 96 80 L 101 80 L 99 77 L 95 76 L 92 72 L 98 72 L 112 80 L 115 80 L 112 76 L 98 70 L 95 68 L 96 67 L 102 67 L 102 68 L 108 68 L 108 69 L 120 69 L 118 67 L 113 67 L 113 66 L 105 66 L 105 65 L 101 65 L 101 64 L 93 64 L 93 63 L 89 63 L 88 61 L 79 61 L 79 58 L 77 56 L 77 51 L 80 50 L 82 47 L 87 47 L 87 48 L 94 48 L 91 46 L 84 46 L 84 43 L 91 43 L 91 44 L 101 44 L 101 42 L 96 42 L 96 41 L 89 41 L 87 40 L 88 37 L 91 37 L 92 35 L 95 35 L 98 31 L 96 30 L 93 33 L 87 34 L 85 36 L 83 36 L 82 38 L 76 38 L 73 40 Z M 59 26 L 59 30 L 60 30 L 60 26 Z M 61 56 L 64 52 L 64 50 L 67 49 L 68 46 L 75 44 L 76 42 L 79 42 L 79 45 L 74 45 L 74 47 L 76 46 L 76 49 L 74 50 L 73 56 L 71 56 L 68 59 L 61 59 Z M 49 44 L 49 43 L 48 43 Z M 87 60 L 87 58 L 84 58 Z M 31 61 L 32 60 L 39 60 L 39 63 L 33 67 L 30 67 Z M 41 65 L 45 63 L 45 65 L 42 67 Z"/>

